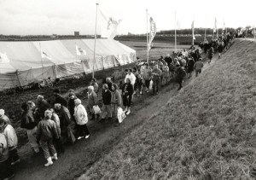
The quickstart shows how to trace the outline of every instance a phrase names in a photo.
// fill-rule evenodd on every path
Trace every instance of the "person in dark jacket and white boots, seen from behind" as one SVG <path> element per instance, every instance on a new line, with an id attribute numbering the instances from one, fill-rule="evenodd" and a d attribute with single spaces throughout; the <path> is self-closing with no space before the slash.
<path id="1" fill-rule="evenodd" d="M 51 120 L 51 116 L 51 111 L 46 110 L 44 119 L 38 123 L 37 140 L 40 142 L 44 151 L 44 158 L 47 160 L 47 163 L 44 164 L 45 167 L 53 165 L 52 160 L 58 160 L 53 141 L 54 139 L 58 139 L 59 136 L 55 122 Z"/>

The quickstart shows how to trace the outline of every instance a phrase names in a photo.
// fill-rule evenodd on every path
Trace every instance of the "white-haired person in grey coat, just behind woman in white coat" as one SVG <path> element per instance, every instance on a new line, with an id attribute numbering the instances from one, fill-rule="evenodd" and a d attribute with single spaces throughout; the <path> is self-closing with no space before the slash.
<path id="1" fill-rule="evenodd" d="M 91 120 L 95 119 L 95 113 L 93 111 L 93 107 L 98 105 L 98 97 L 96 95 L 96 92 L 94 91 L 94 87 L 93 86 L 89 86 L 88 87 L 88 101 L 87 101 L 87 109 L 91 114 Z M 96 114 L 97 119 L 100 118 L 100 114 Z"/>

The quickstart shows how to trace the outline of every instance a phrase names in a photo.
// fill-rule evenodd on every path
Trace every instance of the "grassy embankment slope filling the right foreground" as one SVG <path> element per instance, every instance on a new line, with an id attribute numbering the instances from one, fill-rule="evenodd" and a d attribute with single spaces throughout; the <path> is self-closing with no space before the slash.
<path id="1" fill-rule="evenodd" d="M 221 59 L 79 179 L 253 179 L 256 41 Z"/>

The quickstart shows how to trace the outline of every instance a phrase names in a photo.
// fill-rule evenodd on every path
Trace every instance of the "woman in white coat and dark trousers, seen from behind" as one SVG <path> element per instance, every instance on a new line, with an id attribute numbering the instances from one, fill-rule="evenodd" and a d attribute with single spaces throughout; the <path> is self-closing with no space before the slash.
<path id="1" fill-rule="evenodd" d="M 90 136 L 90 132 L 87 128 L 86 123 L 88 122 L 88 117 L 86 110 L 84 106 L 81 104 L 81 100 L 76 99 L 74 101 L 75 107 L 74 107 L 74 118 L 78 125 L 78 139 L 81 139 L 85 136 L 85 139 L 87 139 Z"/>

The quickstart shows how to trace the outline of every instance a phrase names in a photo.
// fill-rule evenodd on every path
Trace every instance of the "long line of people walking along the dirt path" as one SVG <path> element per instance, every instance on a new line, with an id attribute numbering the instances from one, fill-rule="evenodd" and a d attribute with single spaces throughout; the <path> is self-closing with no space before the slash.
<path id="1" fill-rule="evenodd" d="M 219 38 L 221 41 L 224 38 Z M 208 45 L 207 45 L 208 47 Z M 209 62 L 214 54 L 214 43 L 207 50 Z M 218 48 L 217 48 L 218 49 Z M 36 102 L 27 101 L 21 104 L 22 115 L 20 127 L 26 130 L 28 141 L 35 154 L 40 149 L 44 152 L 46 163 L 53 165 L 58 155 L 65 152 L 65 143 L 74 143 L 82 138 L 90 137 L 88 120 L 116 120 L 119 125 L 118 109 L 124 107 L 125 115 L 131 113 L 131 105 L 135 96 L 159 93 L 160 87 L 170 83 L 179 84 L 177 90 L 183 88 L 184 78 L 191 78 L 195 70 L 197 77 L 204 66 L 201 49 L 183 49 L 180 52 L 166 55 L 164 58 L 125 70 L 124 82 L 114 84 L 112 78 L 106 78 L 102 84 L 102 93 L 96 78 L 92 78 L 87 88 L 86 106 L 76 96 L 75 90 L 68 90 L 67 98 L 61 91 L 53 91 L 55 101 L 49 103 L 44 96 L 38 95 Z M 99 99 L 102 96 L 102 106 Z M 0 109 L 0 179 L 14 176 L 12 165 L 20 162 L 17 151 L 18 138 L 15 129 L 3 109 Z"/>

